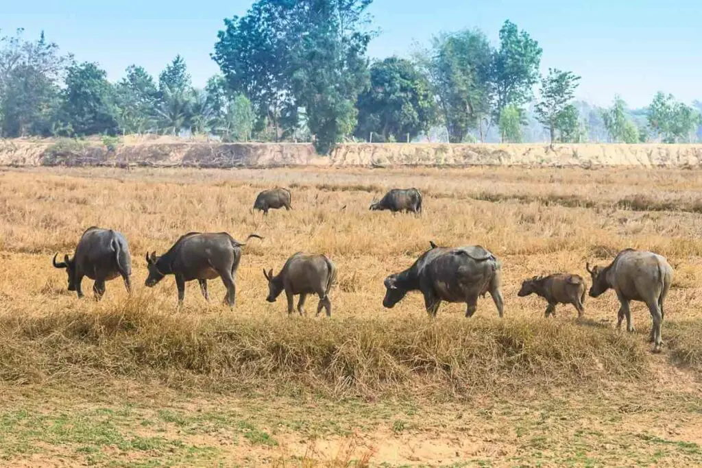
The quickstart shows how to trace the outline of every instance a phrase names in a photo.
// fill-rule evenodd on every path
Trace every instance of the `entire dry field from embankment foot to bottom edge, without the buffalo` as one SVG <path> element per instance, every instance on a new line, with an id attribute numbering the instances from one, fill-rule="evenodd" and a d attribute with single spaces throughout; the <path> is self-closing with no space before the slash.
<path id="1" fill-rule="evenodd" d="M 282 185 L 294 210 L 250 208 Z M 368 210 L 390 187 L 421 216 Z M 669 466 L 702 463 L 702 178 L 659 169 L 11 169 L 0 172 L 0 464 L 7 466 Z M 343 207 L 345 206 L 345 209 Z M 123 232 L 133 284 L 66 290 L 54 253 L 91 225 Z M 190 231 L 243 241 L 233 310 L 210 282 L 176 307 L 145 288 L 147 251 Z M 480 244 L 503 265 L 505 318 L 383 279 L 429 248 Z M 614 329 L 614 293 L 585 318 L 520 298 L 522 279 L 645 248 L 675 268 L 662 354 L 647 309 Z M 265 302 L 262 269 L 298 250 L 338 267 L 331 319 Z M 317 299 L 310 297 L 307 311 Z"/>

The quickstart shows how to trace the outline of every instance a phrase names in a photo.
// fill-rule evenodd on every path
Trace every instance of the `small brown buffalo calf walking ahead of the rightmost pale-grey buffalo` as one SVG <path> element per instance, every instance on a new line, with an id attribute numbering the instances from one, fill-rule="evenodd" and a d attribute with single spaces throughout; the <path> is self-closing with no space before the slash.
<path id="1" fill-rule="evenodd" d="M 557 273 L 548 276 L 534 276 L 522 283 L 517 295 L 525 297 L 536 294 L 548 301 L 545 315 L 556 316 L 557 304 L 572 304 L 578 317 L 585 313 L 585 280 L 577 274 Z"/>

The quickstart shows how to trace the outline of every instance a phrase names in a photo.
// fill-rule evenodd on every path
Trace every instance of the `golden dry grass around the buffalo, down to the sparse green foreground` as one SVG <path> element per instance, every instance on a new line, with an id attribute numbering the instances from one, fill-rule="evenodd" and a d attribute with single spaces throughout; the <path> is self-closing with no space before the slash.
<path id="1" fill-rule="evenodd" d="M 274 185 L 291 188 L 295 209 L 252 214 L 258 191 Z M 0 380 L 11 392 L 41 385 L 110 394 L 111 382 L 126 378 L 179 391 L 368 401 L 650 382 L 654 393 L 677 392 L 671 373 L 696 380 L 702 370 L 701 185 L 694 171 L 639 169 L 2 171 Z M 412 186 L 425 196 L 422 216 L 368 210 L 386 189 Z M 77 300 L 51 267 L 90 225 L 126 235 L 133 297 L 112 281 L 95 303 L 86 279 L 88 298 Z M 189 283 L 180 311 L 172 277 L 143 286 L 147 250 L 161 253 L 192 230 L 265 236 L 244 248 L 233 311 L 220 305 L 219 281 L 210 304 Z M 465 306 L 444 304 L 431 321 L 417 294 L 383 309 L 385 276 L 409 267 L 430 240 L 481 244 L 500 258 L 505 319 L 489 298 L 473 319 Z M 528 276 L 588 277 L 586 260 L 606 264 L 625 247 L 654 250 L 675 268 L 662 355 L 649 353 L 642 305 L 633 307 L 637 333 L 613 329 L 613 293 L 588 297 L 582 323 L 572 307 L 547 320 L 543 300 L 516 296 Z M 298 250 L 325 253 L 338 267 L 331 319 L 288 317 L 283 300 L 265 302 L 262 269 L 277 272 Z M 315 306 L 310 297 L 308 311 Z"/>

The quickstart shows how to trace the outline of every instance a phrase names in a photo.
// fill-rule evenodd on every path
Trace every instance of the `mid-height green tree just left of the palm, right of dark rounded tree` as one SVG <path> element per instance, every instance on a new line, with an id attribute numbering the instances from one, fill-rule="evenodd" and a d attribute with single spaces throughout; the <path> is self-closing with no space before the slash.
<path id="1" fill-rule="evenodd" d="M 143 133 L 153 124 L 157 88 L 143 67 L 130 65 L 115 86 L 117 123 L 122 133 Z"/>

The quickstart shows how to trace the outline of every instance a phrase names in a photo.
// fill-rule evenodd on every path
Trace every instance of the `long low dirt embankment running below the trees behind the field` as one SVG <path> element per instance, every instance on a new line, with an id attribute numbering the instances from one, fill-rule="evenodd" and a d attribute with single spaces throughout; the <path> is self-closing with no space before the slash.
<path id="1" fill-rule="evenodd" d="M 329 157 L 312 145 L 159 138 L 121 142 L 0 140 L 0 166 L 702 166 L 702 145 L 345 144 Z"/>

